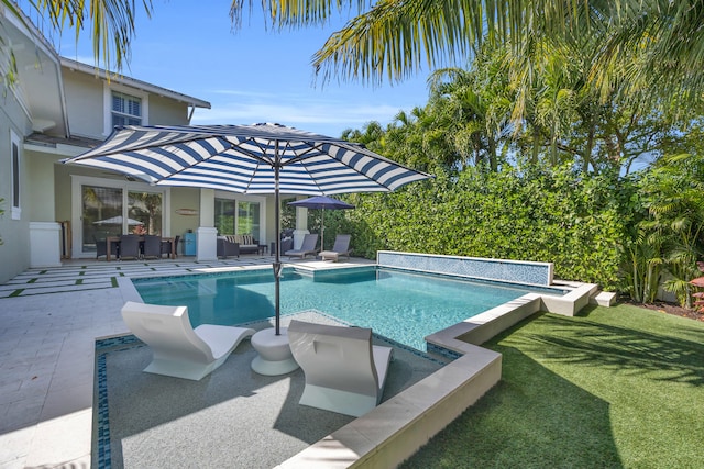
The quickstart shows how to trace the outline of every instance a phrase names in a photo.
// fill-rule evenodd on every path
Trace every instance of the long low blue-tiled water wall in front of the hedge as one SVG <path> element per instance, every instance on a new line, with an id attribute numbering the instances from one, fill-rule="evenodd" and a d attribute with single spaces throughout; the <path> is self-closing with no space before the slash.
<path id="1" fill-rule="evenodd" d="M 376 264 L 407 270 L 537 286 L 552 284 L 552 263 L 380 250 Z"/>

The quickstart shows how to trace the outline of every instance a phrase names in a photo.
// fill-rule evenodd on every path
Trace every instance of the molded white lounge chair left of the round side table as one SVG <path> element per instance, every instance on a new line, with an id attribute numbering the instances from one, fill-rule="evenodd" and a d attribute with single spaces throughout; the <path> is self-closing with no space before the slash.
<path id="1" fill-rule="evenodd" d="M 186 306 L 163 306 L 128 301 L 122 319 L 132 333 L 152 347 L 150 373 L 200 380 L 228 359 L 254 334 L 244 327 L 201 324 L 193 328 Z"/>

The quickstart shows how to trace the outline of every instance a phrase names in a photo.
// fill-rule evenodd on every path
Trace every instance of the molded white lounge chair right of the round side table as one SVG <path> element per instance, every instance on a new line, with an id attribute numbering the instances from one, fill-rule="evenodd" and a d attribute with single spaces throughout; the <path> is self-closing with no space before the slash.
<path id="1" fill-rule="evenodd" d="M 382 400 L 393 348 L 372 345 L 372 330 L 293 320 L 288 340 L 306 376 L 300 404 L 361 416 Z"/>

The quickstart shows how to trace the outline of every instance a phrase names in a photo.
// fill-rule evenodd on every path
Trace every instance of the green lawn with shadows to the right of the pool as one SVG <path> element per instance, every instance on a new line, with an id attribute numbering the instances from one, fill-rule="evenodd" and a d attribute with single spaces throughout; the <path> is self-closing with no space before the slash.
<path id="1" fill-rule="evenodd" d="M 485 344 L 502 381 L 404 468 L 701 468 L 704 323 L 540 314 Z"/>

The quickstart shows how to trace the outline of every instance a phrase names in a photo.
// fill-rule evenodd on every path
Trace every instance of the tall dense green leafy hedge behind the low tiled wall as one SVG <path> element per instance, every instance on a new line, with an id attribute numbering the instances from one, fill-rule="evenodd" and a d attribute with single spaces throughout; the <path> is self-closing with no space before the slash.
<path id="1" fill-rule="evenodd" d="M 378 249 L 554 263 L 556 277 L 619 289 L 634 186 L 569 168 L 483 174 L 469 168 L 394 193 L 351 194 L 328 235 L 352 233 L 356 256 Z"/>

